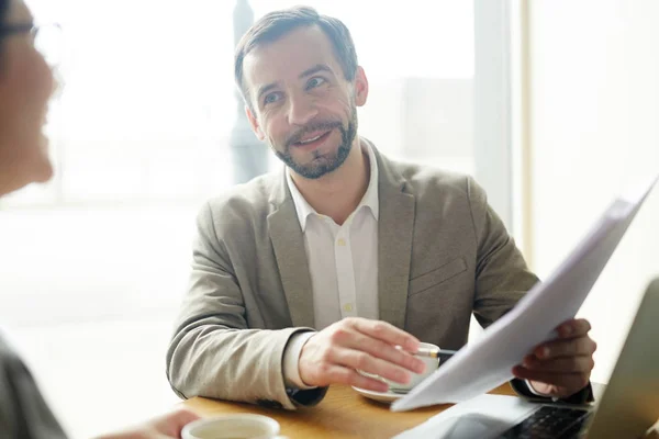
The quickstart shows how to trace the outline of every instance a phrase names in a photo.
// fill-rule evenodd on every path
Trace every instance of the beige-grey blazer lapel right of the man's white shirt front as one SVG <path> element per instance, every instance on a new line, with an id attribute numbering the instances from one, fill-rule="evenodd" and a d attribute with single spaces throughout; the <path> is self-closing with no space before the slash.
<path id="1" fill-rule="evenodd" d="M 378 302 L 380 319 L 399 328 L 405 326 L 414 195 L 404 192 L 405 180 L 376 150 L 379 172 Z"/>

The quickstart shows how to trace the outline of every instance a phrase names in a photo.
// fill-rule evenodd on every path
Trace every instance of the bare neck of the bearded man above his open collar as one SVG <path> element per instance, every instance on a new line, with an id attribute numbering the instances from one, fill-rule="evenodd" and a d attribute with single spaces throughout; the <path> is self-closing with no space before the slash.
<path id="1" fill-rule="evenodd" d="M 342 225 L 357 209 L 368 189 L 370 162 L 356 137 L 346 161 L 333 172 L 310 180 L 291 171 L 291 178 L 304 200 L 321 215 Z"/>

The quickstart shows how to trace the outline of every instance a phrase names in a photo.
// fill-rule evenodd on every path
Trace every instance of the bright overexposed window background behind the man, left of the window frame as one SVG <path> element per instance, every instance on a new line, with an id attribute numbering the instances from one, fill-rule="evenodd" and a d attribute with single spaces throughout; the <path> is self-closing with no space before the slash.
<path id="1" fill-rule="evenodd" d="M 83 438 L 178 401 L 165 351 L 193 219 L 233 183 L 234 2 L 27 3 L 64 29 L 57 178 L 0 204 L 0 322 Z M 295 3 L 252 1 L 257 18 Z M 360 133 L 392 157 L 472 172 L 473 4 L 308 3 L 354 32 L 371 85 Z"/>

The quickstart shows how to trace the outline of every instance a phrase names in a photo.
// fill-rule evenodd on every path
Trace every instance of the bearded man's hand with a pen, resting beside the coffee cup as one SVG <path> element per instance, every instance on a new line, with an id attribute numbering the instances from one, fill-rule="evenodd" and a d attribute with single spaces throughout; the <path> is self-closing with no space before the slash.
<path id="1" fill-rule="evenodd" d="M 410 372 L 425 369 L 423 361 L 409 353 L 417 350 L 415 337 L 386 322 L 350 317 L 312 336 L 300 352 L 298 368 L 308 385 L 348 384 L 387 392 L 387 383 L 357 370 L 406 384 Z"/>

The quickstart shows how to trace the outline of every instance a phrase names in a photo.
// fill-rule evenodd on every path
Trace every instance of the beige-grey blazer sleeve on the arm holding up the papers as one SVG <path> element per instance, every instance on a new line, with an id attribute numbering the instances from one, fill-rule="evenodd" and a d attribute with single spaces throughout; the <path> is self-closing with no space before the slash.
<path id="1" fill-rule="evenodd" d="M 538 278 L 472 178 L 467 179 L 467 192 L 477 245 L 473 314 L 487 327 L 512 309 Z"/>

